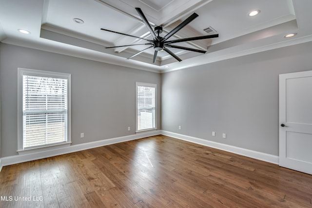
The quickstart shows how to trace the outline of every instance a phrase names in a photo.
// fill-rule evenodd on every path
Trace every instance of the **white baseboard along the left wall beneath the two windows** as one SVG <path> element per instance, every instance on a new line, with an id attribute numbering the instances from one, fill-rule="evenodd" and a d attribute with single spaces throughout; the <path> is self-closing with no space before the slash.
<path id="1" fill-rule="evenodd" d="M 38 151 L 35 153 L 26 153 L 23 155 L 2 157 L 0 158 L 0 170 L 2 166 L 6 166 L 6 165 L 12 165 L 12 164 L 17 164 L 21 162 L 27 162 L 27 161 L 32 161 L 36 159 L 51 157 L 51 156 L 58 156 L 58 155 L 63 155 L 67 153 L 78 152 L 81 150 L 96 148 L 96 147 L 110 145 L 110 144 L 116 144 L 116 143 L 120 143 L 124 141 L 141 139 L 145 137 L 152 137 L 152 136 L 156 136 L 159 134 L 161 134 L 161 132 L 160 130 L 157 130 L 157 131 L 151 131 L 151 132 L 129 135 L 129 136 L 124 136 L 124 137 L 103 139 L 103 140 L 92 141 L 92 142 L 83 143 L 83 144 L 76 144 L 76 145 L 71 145 L 68 147 L 62 147 L 58 149 L 51 149 L 51 150 L 45 150 L 45 151 Z"/>

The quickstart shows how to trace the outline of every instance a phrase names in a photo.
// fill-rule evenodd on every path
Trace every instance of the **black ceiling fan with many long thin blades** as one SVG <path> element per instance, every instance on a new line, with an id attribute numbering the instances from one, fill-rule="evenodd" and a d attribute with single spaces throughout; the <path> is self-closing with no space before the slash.
<path id="1" fill-rule="evenodd" d="M 119 33 L 119 32 L 116 32 L 116 31 L 111 31 L 111 30 L 107 30 L 107 29 L 101 28 L 101 30 L 104 30 L 104 31 L 117 33 L 117 34 L 120 34 L 120 35 L 127 35 L 127 36 L 130 36 L 130 37 L 135 37 L 135 38 L 139 38 L 139 39 L 143 39 L 143 40 L 148 41 L 148 43 L 143 43 L 143 44 L 132 44 L 132 45 L 124 45 L 124 46 L 106 47 L 106 49 L 110 49 L 110 48 L 136 46 L 136 45 L 150 45 L 148 48 L 143 49 L 140 52 L 137 52 L 136 54 L 130 56 L 127 59 L 133 58 L 136 55 L 140 54 L 141 52 L 144 52 L 145 50 L 154 47 L 155 52 L 154 52 L 153 63 L 155 63 L 155 61 L 156 61 L 157 52 L 158 51 L 163 51 L 163 50 L 165 52 L 169 53 L 171 56 L 173 56 L 176 60 L 182 61 L 182 59 L 180 59 L 175 53 L 170 51 L 168 48 L 176 48 L 176 49 L 182 49 L 182 50 L 187 50 L 187 51 L 192 51 L 192 52 L 200 52 L 200 53 L 205 53 L 206 51 L 192 49 L 192 48 L 183 47 L 183 46 L 172 45 L 173 43 L 187 42 L 187 41 L 192 41 L 192 40 L 208 39 L 208 38 L 213 38 L 213 37 L 218 37 L 219 36 L 218 34 L 214 34 L 214 35 L 204 35 L 204 36 L 197 36 L 197 37 L 181 38 L 181 39 L 176 39 L 176 40 L 168 40 L 172 35 L 175 35 L 176 32 L 181 30 L 184 26 L 186 26 L 191 21 L 193 21 L 196 17 L 198 17 L 198 15 L 196 13 L 193 13 L 193 15 L 191 15 L 190 17 L 185 19 L 182 23 L 180 23 L 178 26 L 176 26 L 176 28 L 174 28 L 172 31 L 170 31 L 167 35 L 165 35 L 164 37 L 161 37 L 161 36 L 159 36 L 159 34 L 162 33 L 162 27 L 161 26 L 156 26 L 154 28 L 154 30 L 153 30 L 151 25 L 149 24 L 148 20 L 144 16 L 142 10 L 140 8 L 136 8 L 136 10 L 137 10 L 137 13 L 139 14 L 139 16 L 141 17 L 141 19 L 143 20 L 144 24 L 146 25 L 147 29 L 150 31 L 151 35 L 153 36 L 153 40 L 149 40 L 149 39 L 145 39 L 145 38 L 142 38 L 142 37 L 137 37 L 137 36 L 134 36 L 134 35 L 128 35 L 128 34 Z"/>

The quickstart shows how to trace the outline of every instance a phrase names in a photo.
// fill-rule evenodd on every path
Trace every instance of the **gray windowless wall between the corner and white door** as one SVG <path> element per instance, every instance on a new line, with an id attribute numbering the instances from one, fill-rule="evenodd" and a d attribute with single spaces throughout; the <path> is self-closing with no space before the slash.
<path id="1" fill-rule="evenodd" d="M 278 74 L 305 70 L 312 42 L 164 73 L 162 130 L 278 156 Z"/>

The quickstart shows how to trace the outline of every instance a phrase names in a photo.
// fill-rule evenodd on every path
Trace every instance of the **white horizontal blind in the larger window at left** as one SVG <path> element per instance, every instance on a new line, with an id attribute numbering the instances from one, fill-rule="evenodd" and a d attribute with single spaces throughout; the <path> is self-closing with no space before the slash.
<path id="1" fill-rule="evenodd" d="M 23 149 L 67 141 L 67 79 L 23 75 Z"/>

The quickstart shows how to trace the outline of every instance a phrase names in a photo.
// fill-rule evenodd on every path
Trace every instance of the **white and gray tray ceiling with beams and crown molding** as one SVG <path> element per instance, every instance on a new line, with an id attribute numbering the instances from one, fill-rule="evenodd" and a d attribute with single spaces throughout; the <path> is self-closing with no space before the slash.
<path id="1" fill-rule="evenodd" d="M 312 40 L 311 0 L 0 0 L 0 41 L 45 51 L 152 71 L 183 69 L 240 55 L 271 50 Z M 133 60 L 126 58 L 146 46 L 105 49 L 144 40 L 100 30 L 152 39 L 135 7 L 141 8 L 163 34 L 194 12 L 199 15 L 171 39 L 208 35 L 211 27 L 219 37 L 181 43 L 207 50 L 205 54 L 172 49 L 183 61 L 166 52 L 148 49 Z M 252 10 L 260 14 L 249 17 Z M 83 20 L 83 24 L 74 21 Z M 31 34 L 20 34 L 25 29 Z M 296 33 L 292 38 L 285 38 Z M 168 68 L 164 68 L 164 67 Z"/>

